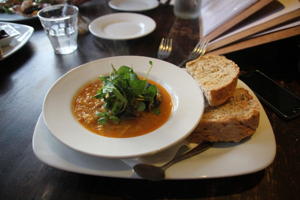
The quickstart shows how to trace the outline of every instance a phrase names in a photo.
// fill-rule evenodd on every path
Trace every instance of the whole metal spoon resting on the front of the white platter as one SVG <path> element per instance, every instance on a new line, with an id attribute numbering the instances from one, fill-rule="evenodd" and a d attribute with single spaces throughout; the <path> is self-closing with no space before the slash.
<path id="1" fill-rule="evenodd" d="M 154 165 L 149 165 L 145 163 L 137 164 L 134 165 L 132 168 L 132 171 L 139 175 L 140 177 L 147 179 L 147 180 L 154 180 L 154 181 L 159 181 L 159 180 L 164 180 L 165 178 L 165 170 L 173 165 L 176 162 L 179 162 L 183 159 L 192 157 L 197 155 L 198 153 L 209 149 L 212 146 L 212 142 L 203 142 L 193 148 L 192 150 L 177 156 L 176 158 L 173 158 L 171 161 L 167 162 L 161 167 L 156 167 Z"/>

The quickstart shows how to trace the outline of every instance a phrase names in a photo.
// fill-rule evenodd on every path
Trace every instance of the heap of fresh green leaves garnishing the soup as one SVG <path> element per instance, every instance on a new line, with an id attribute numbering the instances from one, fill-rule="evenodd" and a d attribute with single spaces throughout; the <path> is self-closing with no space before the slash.
<path id="1" fill-rule="evenodd" d="M 123 65 L 116 70 L 110 62 L 112 71 L 109 76 L 100 76 L 103 86 L 94 96 L 103 99 L 104 108 L 107 109 L 107 112 L 96 112 L 99 117 L 98 123 L 104 125 L 110 119 L 119 122 L 120 116 L 124 118 L 128 114 L 128 118 L 134 118 L 138 116 L 138 111 L 151 110 L 155 103 L 157 105 L 158 89 L 156 85 L 147 85 L 146 80 L 153 66 L 152 61 L 149 61 L 149 64 L 151 66 L 146 76 L 140 80 L 132 67 Z M 155 114 L 159 114 L 157 109 Z"/>

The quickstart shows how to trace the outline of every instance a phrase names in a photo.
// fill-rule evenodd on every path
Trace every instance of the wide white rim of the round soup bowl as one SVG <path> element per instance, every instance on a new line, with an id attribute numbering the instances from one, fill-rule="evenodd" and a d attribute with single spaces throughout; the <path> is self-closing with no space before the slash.
<path id="1" fill-rule="evenodd" d="M 122 65 L 163 86 L 173 102 L 171 116 L 164 125 L 145 135 L 109 138 L 85 129 L 74 117 L 72 106 L 76 93 L 100 75 L 108 75 Z M 174 78 L 176 77 L 176 78 Z M 196 81 L 171 63 L 142 56 L 117 56 L 81 65 L 57 80 L 46 94 L 43 116 L 50 132 L 66 146 L 92 156 L 132 158 L 165 150 L 187 137 L 197 126 L 204 111 L 204 97 Z M 181 124 L 181 126 L 176 126 Z"/>

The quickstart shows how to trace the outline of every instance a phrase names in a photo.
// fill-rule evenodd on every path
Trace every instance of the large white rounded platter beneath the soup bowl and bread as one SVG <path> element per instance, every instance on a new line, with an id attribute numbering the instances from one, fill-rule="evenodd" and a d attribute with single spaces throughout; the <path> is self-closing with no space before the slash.
<path id="1" fill-rule="evenodd" d="M 258 101 L 241 80 L 238 80 L 238 87 L 248 89 Z M 166 171 L 166 179 L 229 177 L 268 167 L 274 160 L 276 143 L 271 124 L 260 102 L 259 110 L 259 126 L 254 135 L 239 143 L 214 142 L 205 152 L 170 166 Z M 89 156 L 66 147 L 49 132 L 42 114 L 34 130 L 32 146 L 37 158 L 54 168 L 97 176 L 139 178 L 120 159 Z"/>

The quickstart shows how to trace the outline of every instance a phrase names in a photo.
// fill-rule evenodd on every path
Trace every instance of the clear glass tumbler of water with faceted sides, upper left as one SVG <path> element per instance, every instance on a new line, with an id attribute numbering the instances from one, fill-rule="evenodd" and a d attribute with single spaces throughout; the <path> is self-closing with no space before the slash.
<path id="1" fill-rule="evenodd" d="M 38 12 L 52 47 L 57 54 L 77 50 L 78 8 L 74 5 L 54 5 Z"/>

